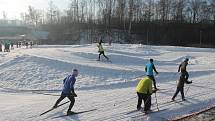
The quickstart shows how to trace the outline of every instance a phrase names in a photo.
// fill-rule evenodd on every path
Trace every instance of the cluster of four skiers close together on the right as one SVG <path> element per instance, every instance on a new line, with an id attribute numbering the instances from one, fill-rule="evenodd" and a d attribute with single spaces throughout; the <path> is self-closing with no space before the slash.
<path id="1" fill-rule="evenodd" d="M 175 100 L 175 97 L 178 95 L 178 93 L 181 93 L 182 101 L 185 100 L 184 96 L 184 84 L 191 84 L 192 81 L 188 81 L 189 74 L 187 72 L 187 65 L 188 65 L 189 59 L 186 58 L 178 68 L 178 72 L 180 72 L 180 78 L 178 80 L 176 92 L 172 97 L 172 101 Z M 141 110 L 141 104 L 142 101 L 144 101 L 144 112 L 150 112 L 151 111 L 151 95 L 153 93 L 156 93 L 157 90 L 159 90 L 156 87 L 156 81 L 153 75 L 153 70 L 158 74 L 154 64 L 153 59 L 150 59 L 150 62 L 146 65 L 146 77 L 139 81 L 136 92 L 138 96 L 138 104 L 137 104 L 137 110 Z M 152 83 L 154 85 L 154 89 L 152 88 Z"/>

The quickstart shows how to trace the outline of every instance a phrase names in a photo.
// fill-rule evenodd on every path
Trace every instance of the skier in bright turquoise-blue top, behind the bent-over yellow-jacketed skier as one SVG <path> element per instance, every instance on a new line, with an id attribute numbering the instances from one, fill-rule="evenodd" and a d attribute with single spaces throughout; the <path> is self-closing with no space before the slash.
<path id="1" fill-rule="evenodd" d="M 157 90 L 157 86 L 156 86 L 156 80 L 154 78 L 154 74 L 153 74 L 153 70 L 155 71 L 156 74 L 158 74 L 155 66 L 154 66 L 154 63 L 153 63 L 153 59 L 150 59 L 149 60 L 150 62 L 146 64 L 146 67 L 145 67 L 145 71 L 146 71 L 146 75 L 151 77 L 152 81 L 153 81 L 153 85 L 154 85 L 154 88 Z"/>

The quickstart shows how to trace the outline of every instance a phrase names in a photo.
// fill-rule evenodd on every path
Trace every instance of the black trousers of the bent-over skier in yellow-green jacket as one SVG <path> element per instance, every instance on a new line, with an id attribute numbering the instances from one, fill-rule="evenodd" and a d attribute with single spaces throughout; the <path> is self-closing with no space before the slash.
<path id="1" fill-rule="evenodd" d="M 144 111 L 150 110 L 151 109 L 151 95 L 137 92 L 137 96 L 138 96 L 137 109 L 141 108 L 142 101 L 144 101 Z"/>

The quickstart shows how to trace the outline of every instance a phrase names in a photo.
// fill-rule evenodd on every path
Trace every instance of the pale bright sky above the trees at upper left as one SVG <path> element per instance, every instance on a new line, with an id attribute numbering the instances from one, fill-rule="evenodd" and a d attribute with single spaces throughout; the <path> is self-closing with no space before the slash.
<path id="1" fill-rule="evenodd" d="M 54 5 L 59 9 L 68 8 L 70 0 L 52 0 Z M 36 9 L 47 10 L 50 0 L 0 0 L 0 19 L 3 18 L 3 11 L 6 12 L 7 18 L 19 19 L 20 13 L 26 12 L 28 6 Z"/>

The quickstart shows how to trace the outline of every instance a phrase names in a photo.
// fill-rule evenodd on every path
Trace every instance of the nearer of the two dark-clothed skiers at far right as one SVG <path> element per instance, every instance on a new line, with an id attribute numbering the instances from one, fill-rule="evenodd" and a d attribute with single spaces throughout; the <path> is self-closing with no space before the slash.
<path id="1" fill-rule="evenodd" d="M 191 84 L 192 83 L 192 81 L 187 80 L 188 76 L 187 76 L 186 73 L 187 73 L 186 71 L 181 72 L 181 76 L 180 76 L 180 79 L 178 81 L 177 89 L 176 89 L 176 92 L 175 92 L 174 96 L 172 97 L 172 101 L 175 100 L 175 97 L 178 95 L 179 92 L 181 92 L 182 100 L 183 101 L 185 100 L 185 97 L 184 97 L 184 83 L 186 83 L 186 84 Z"/>

